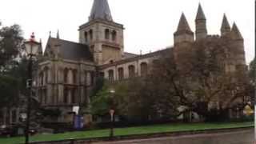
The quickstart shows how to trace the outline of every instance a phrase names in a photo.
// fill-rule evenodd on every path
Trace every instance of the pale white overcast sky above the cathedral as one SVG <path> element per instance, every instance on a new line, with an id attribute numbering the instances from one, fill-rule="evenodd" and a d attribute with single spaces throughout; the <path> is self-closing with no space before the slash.
<path id="1" fill-rule="evenodd" d="M 173 45 L 178 20 L 185 13 L 194 30 L 199 0 L 109 0 L 114 22 L 125 30 L 125 50 L 138 54 Z M 201 0 L 209 34 L 219 34 L 223 13 L 235 21 L 245 38 L 246 61 L 254 58 L 254 0 Z M 78 42 L 78 26 L 86 23 L 93 0 L 2 0 L 0 20 L 4 26 L 17 23 L 24 37 L 35 32 L 46 45 L 60 30 L 60 38 Z"/>

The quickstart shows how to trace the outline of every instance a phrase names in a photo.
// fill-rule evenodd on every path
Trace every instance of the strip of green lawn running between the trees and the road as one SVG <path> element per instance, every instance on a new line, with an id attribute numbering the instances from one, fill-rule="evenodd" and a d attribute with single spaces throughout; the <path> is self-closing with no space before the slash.
<path id="1" fill-rule="evenodd" d="M 163 132 L 177 132 L 188 130 L 209 130 L 223 128 L 238 128 L 254 126 L 254 122 L 232 122 L 232 123 L 195 123 L 195 124 L 165 124 L 154 126 L 138 126 L 129 128 L 114 129 L 114 135 L 130 135 L 130 134 L 155 134 Z M 54 141 L 70 138 L 102 138 L 109 136 L 110 130 L 90 130 L 84 132 L 68 132 L 64 134 L 38 134 L 30 137 L 31 141 Z M 24 138 L 0 138 L 1 144 L 17 144 L 24 142 Z"/>

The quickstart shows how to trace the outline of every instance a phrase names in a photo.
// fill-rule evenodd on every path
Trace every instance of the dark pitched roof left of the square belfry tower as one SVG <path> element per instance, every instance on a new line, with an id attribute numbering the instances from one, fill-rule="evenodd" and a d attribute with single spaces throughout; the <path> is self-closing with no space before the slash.
<path id="1" fill-rule="evenodd" d="M 47 46 L 54 49 L 58 45 L 58 55 L 60 58 L 69 60 L 86 59 L 93 61 L 93 55 L 90 53 L 90 48 L 76 42 L 70 42 L 59 38 L 49 38 Z"/>

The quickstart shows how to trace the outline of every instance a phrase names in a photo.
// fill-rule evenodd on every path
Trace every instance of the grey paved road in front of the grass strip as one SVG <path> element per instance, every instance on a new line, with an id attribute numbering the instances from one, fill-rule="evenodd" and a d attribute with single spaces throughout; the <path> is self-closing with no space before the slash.
<path id="1" fill-rule="evenodd" d="M 221 134 L 194 134 L 94 144 L 253 144 L 253 139 L 254 130 L 240 130 Z"/>

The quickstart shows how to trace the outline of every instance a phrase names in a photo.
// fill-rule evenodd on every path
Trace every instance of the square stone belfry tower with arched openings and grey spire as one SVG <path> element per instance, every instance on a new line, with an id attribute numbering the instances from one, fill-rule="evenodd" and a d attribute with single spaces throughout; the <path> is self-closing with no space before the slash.
<path id="1" fill-rule="evenodd" d="M 90 45 L 97 65 L 118 61 L 123 55 L 123 26 L 114 22 L 107 0 L 94 0 L 89 22 L 79 27 L 79 42 Z"/>

